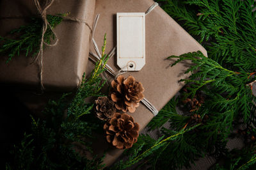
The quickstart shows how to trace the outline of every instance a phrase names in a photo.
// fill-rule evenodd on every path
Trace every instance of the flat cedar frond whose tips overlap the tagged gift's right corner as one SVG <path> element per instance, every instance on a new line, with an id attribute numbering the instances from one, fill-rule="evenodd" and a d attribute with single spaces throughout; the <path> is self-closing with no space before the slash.
<path id="1" fill-rule="evenodd" d="M 168 59 L 171 58 L 177 58 L 177 56 L 170 56 Z M 237 87 L 239 87 L 243 85 L 242 80 L 247 79 L 248 75 L 250 75 L 250 73 L 238 73 L 227 70 L 226 68 L 223 68 L 221 65 L 219 65 L 216 61 L 206 58 L 200 51 L 189 52 L 188 54 L 179 56 L 178 60 L 175 61 L 172 66 L 184 60 L 190 60 L 194 64 L 190 66 L 185 73 L 195 73 L 193 73 L 189 79 L 180 80 L 186 83 L 191 83 L 191 86 L 189 87 L 189 90 L 191 91 L 188 93 L 188 95 L 191 95 L 192 97 L 195 96 L 195 93 L 198 89 L 207 84 L 211 84 L 220 91 L 227 91 L 230 93 L 230 95 L 232 95 L 232 93 L 238 89 L 236 86 L 232 86 L 232 84 L 227 83 L 226 80 L 235 80 L 234 83 L 236 83 Z M 196 72 L 198 69 L 200 70 Z M 224 85 L 222 86 L 222 84 Z"/>

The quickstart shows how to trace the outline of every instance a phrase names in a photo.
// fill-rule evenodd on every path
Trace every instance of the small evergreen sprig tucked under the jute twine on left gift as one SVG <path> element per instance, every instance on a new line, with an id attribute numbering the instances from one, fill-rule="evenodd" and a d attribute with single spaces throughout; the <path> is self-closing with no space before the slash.
<path id="1" fill-rule="evenodd" d="M 58 26 L 66 15 L 67 14 L 47 15 L 47 20 L 52 29 Z M 10 32 L 9 35 L 11 38 L 0 36 L 0 55 L 8 55 L 6 63 L 12 61 L 14 56 L 19 56 L 20 52 L 25 52 L 26 56 L 31 52 L 33 53 L 33 56 L 38 54 L 42 38 L 42 26 L 42 19 L 31 17 L 30 24 L 20 26 Z M 51 40 L 54 40 L 55 38 L 56 37 L 54 33 L 52 33 L 51 28 L 47 27 L 47 31 L 44 35 L 44 41 L 50 44 Z"/>

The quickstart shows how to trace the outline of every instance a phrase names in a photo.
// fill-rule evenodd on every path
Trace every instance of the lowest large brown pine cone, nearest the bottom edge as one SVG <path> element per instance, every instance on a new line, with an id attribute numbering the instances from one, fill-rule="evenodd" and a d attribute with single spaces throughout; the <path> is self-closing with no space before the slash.
<path id="1" fill-rule="evenodd" d="M 118 149 L 131 148 L 132 144 L 137 142 L 139 128 L 139 124 L 134 123 L 132 116 L 118 112 L 104 125 L 108 143 Z"/>

